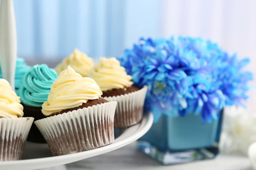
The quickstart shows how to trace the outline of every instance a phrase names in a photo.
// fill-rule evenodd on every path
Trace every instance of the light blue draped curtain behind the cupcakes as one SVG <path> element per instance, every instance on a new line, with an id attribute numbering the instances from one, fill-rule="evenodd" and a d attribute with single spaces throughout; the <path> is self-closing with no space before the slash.
<path id="1" fill-rule="evenodd" d="M 162 36 L 162 0 L 14 0 L 18 56 L 119 56 L 139 37 Z"/>

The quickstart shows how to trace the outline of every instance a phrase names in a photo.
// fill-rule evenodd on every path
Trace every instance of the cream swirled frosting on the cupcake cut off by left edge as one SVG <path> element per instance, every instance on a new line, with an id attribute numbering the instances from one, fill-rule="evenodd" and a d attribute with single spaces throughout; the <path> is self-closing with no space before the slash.
<path id="1" fill-rule="evenodd" d="M 22 117 L 23 106 L 20 97 L 12 91 L 12 87 L 5 79 L 0 79 L 0 117 Z"/>

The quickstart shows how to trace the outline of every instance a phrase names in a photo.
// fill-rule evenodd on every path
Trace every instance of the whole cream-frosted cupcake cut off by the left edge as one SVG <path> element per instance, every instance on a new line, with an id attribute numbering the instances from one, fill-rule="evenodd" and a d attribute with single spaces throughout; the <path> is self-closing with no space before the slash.
<path id="1" fill-rule="evenodd" d="M 23 106 L 5 79 L 0 79 L 0 161 L 21 159 L 34 118 L 22 117 Z"/>

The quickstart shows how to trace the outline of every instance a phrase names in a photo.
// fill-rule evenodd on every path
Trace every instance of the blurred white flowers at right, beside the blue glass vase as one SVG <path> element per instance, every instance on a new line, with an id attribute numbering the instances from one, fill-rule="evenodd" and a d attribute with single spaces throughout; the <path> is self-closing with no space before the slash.
<path id="1" fill-rule="evenodd" d="M 226 107 L 219 145 L 221 153 L 247 155 L 253 142 L 256 142 L 256 114 L 245 108 Z"/>

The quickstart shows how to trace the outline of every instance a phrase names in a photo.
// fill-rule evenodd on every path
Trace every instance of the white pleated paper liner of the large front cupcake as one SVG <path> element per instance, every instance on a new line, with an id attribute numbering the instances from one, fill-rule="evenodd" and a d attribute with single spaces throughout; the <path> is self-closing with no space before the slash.
<path id="1" fill-rule="evenodd" d="M 35 121 L 52 154 L 91 150 L 114 141 L 116 102 L 69 111 Z"/>

